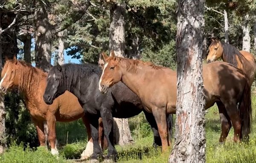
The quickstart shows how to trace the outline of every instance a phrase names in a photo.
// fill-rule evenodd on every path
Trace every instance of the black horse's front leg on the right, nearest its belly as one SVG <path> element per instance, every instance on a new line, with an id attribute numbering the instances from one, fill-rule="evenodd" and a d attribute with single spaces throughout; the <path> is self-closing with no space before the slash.
<path id="1" fill-rule="evenodd" d="M 113 143 L 113 132 L 111 133 L 113 127 L 112 112 L 107 108 L 102 108 L 100 114 L 102 117 L 104 134 L 108 141 L 108 155 L 106 158 L 109 159 L 112 157 L 114 160 L 116 160 L 117 152 Z"/>

